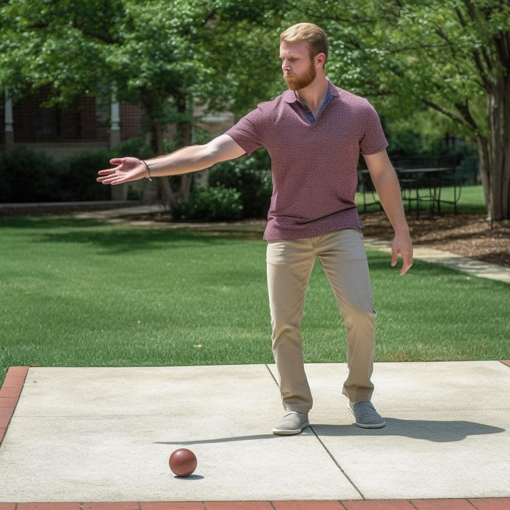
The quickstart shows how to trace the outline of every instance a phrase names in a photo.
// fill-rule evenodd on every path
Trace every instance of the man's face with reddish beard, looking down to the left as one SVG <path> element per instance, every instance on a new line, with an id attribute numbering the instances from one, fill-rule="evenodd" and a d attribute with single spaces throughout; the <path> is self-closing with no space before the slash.
<path id="1" fill-rule="evenodd" d="M 280 44 L 280 59 L 284 80 L 289 89 L 300 90 L 308 87 L 317 76 L 315 64 L 310 60 L 310 48 L 308 41 Z"/>

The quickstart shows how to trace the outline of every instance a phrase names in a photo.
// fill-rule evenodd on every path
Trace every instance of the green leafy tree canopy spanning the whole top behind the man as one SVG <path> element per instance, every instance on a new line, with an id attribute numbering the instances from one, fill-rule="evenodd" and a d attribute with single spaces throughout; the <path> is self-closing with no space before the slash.
<path id="1" fill-rule="evenodd" d="M 117 98 L 143 105 L 152 123 L 196 120 L 195 100 L 205 114 L 228 110 L 239 118 L 287 89 L 279 34 L 303 20 L 326 33 L 327 77 L 378 111 L 389 152 L 448 152 L 446 133 L 473 147 L 477 135 L 500 135 L 487 122 L 488 94 L 508 72 L 501 47 L 510 7 L 500 0 L 268 0 L 264 6 L 254 0 L 11 0 L 0 6 L 0 89 L 16 100 L 27 87 L 52 84 L 51 100 L 66 103 L 98 91 L 108 96 L 115 86 Z M 208 141 L 202 135 L 195 143 Z M 165 141 L 164 149 L 182 146 Z M 115 156 L 154 156 L 138 146 L 123 152 L 117 148 Z M 259 216 L 259 205 L 265 214 L 267 177 L 257 186 L 254 169 L 245 165 L 237 161 L 234 171 L 221 164 L 227 170 L 216 172 L 216 182 L 241 192 L 243 214 Z M 171 180 L 172 187 L 179 184 Z"/>

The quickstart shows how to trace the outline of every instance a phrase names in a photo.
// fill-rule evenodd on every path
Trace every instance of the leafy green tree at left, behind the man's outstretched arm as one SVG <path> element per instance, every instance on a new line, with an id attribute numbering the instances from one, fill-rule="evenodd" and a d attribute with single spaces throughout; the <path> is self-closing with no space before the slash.
<path id="1" fill-rule="evenodd" d="M 253 0 L 12 0 L 0 10 L 0 87 L 17 100 L 29 87 L 51 84 L 48 107 L 110 89 L 143 106 L 152 150 L 162 155 L 169 123 L 176 125 L 174 146 L 191 145 L 195 101 L 227 106 L 232 56 L 217 26 L 220 13 L 228 28 L 243 17 L 263 18 Z M 188 200 L 191 177 L 177 176 L 175 194 L 168 179 L 157 180 L 170 207 Z"/>

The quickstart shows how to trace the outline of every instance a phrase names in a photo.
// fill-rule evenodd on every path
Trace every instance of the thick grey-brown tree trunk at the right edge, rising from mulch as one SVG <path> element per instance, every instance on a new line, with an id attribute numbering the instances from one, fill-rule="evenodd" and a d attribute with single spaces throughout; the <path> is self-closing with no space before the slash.
<path id="1" fill-rule="evenodd" d="M 491 220 L 510 219 L 510 75 L 495 78 L 487 94 L 491 133 L 488 160 Z"/>

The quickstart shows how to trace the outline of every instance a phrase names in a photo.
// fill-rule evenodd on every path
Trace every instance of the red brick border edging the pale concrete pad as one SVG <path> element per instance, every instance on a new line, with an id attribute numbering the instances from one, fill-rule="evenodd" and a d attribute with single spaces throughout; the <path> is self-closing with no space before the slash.
<path id="1" fill-rule="evenodd" d="M 510 367 L 510 360 L 499 360 Z M 0 447 L 30 367 L 9 367 L 0 388 Z M 510 510 L 508 498 L 331 501 L 155 501 L 0 503 L 0 510 Z"/>

